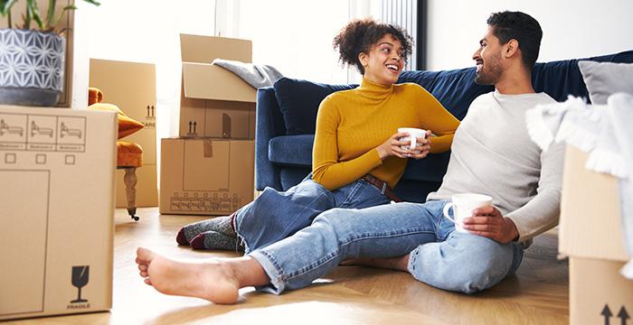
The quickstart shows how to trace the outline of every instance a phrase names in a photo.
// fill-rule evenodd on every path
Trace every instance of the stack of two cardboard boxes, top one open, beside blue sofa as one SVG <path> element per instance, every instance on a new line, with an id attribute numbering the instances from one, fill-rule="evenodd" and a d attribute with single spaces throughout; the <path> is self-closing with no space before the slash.
<path id="1" fill-rule="evenodd" d="M 250 62 L 250 41 L 181 34 L 179 138 L 161 142 L 160 213 L 227 215 L 253 199 L 255 93 L 214 59 Z"/>

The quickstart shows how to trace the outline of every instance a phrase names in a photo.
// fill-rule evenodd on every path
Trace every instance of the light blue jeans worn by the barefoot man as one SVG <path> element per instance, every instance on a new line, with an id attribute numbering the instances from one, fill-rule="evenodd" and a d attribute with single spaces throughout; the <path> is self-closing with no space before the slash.
<path id="1" fill-rule="evenodd" d="M 414 278 L 449 291 L 481 291 L 515 274 L 523 246 L 455 231 L 442 215 L 446 203 L 330 209 L 294 236 L 249 254 L 270 278 L 260 289 L 305 287 L 350 258 L 407 254 Z"/>

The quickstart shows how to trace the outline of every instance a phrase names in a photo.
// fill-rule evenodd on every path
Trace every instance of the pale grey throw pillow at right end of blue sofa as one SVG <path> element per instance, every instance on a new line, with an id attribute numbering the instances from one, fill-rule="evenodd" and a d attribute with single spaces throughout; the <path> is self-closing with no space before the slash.
<path id="1" fill-rule="evenodd" d="M 607 104 L 607 98 L 617 92 L 633 95 L 633 64 L 581 60 L 578 67 L 592 104 Z"/>

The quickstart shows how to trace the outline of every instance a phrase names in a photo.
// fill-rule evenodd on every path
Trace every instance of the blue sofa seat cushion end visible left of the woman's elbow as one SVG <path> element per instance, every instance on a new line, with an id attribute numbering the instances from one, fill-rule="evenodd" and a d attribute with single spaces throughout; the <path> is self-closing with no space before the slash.
<path id="1" fill-rule="evenodd" d="M 291 166 L 312 167 L 315 135 L 282 135 L 270 139 L 269 161 Z"/>

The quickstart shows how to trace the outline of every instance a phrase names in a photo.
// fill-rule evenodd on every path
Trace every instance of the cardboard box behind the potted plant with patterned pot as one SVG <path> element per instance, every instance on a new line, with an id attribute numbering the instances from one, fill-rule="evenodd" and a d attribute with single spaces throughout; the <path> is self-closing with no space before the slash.
<path id="1" fill-rule="evenodd" d="M 41 11 L 46 10 L 48 8 L 48 1 L 46 0 L 38 0 L 37 5 Z M 73 1 L 65 0 L 58 1 L 55 5 L 56 13 L 60 14 L 61 10 L 68 6 L 72 5 Z M 25 13 L 26 3 L 19 1 L 16 2 L 13 6 L 11 12 L 14 14 L 13 16 L 13 24 L 22 23 L 22 13 Z M 41 14 L 45 14 L 45 12 L 41 12 Z M 58 99 L 57 106 L 58 107 L 71 107 L 71 98 L 72 98 L 72 81 L 73 81 L 73 39 L 74 39 L 74 16 L 75 12 L 73 10 L 68 11 L 62 21 L 58 23 L 59 29 L 66 29 L 66 31 L 62 34 L 62 36 L 66 39 L 66 59 L 65 59 L 65 68 L 64 68 L 64 85 L 61 89 L 60 98 Z M 32 26 L 35 22 L 32 22 Z M 0 28 L 6 28 L 8 25 L 6 17 L 0 17 Z M 87 93 L 87 90 L 86 90 Z"/>

